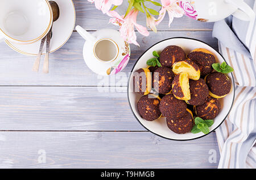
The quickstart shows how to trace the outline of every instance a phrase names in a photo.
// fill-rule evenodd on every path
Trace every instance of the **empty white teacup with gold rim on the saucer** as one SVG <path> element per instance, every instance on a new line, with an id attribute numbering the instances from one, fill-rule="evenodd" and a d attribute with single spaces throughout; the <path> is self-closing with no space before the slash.
<path id="1" fill-rule="evenodd" d="M 52 26 L 47 0 L 1 0 L 0 40 L 31 44 L 47 35 Z"/>

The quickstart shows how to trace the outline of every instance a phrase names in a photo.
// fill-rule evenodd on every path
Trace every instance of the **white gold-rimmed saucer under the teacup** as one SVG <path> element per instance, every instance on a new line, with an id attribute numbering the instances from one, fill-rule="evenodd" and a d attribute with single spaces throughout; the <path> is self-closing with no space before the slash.
<path id="1" fill-rule="evenodd" d="M 52 25 L 52 39 L 50 44 L 50 53 L 61 48 L 71 36 L 76 23 L 76 10 L 72 0 L 55 0 L 60 9 L 60 16 Z M 38 55 L 41 40 L 32 44 L 15 44 L 5 40 L 6 44 L 15 51 L 23 55 Z M 46 53 L 44 45 L 42 54 Z"/>

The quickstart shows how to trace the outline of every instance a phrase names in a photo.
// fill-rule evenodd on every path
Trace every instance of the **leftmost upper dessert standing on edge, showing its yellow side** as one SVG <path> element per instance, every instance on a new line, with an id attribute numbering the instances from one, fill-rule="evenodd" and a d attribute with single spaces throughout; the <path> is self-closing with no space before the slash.
<path id="1" fill-rule="evenodd" d="M 147 68 L 141 68 L 133 74 L 133 88 L 134 92 L 141 95 L 147 95 L 151 91 L 151 73 Z"/>

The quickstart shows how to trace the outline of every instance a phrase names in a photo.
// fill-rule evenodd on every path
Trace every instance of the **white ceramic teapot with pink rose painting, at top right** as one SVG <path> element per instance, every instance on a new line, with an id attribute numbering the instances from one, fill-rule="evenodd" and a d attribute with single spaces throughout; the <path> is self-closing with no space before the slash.
<path id="1" fill-rule="evenodd" d="M 245 21 L 255 18 L 254 11 L 243 0 L 180 0 L 179 6 L 189 18 L 201 22 L 216 22 L 229 15 Z"/>

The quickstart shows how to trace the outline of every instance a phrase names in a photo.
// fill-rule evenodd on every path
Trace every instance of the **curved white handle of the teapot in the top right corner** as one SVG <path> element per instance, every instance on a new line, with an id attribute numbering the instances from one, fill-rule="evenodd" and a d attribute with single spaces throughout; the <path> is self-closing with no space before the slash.
<path id="1" fill-rule="evenodd" d="M 234 16 L 236 16 L 236 18 L 241 19 L 241 20 L 247 20 L 247 21 L 254 20 L 255 12 L 245 2 L 243 2 L 241 0 L 225 0 L 225 1 L 227 3 L 230 3 L 230 4 L 238 7 L 238 11 L 234 12 L 234 14 L 233 14 Z M 245 15 L 243 15 L 243 14 L 247 15 L 247 18 L 245 18 Z"/>

